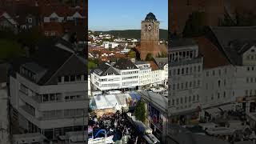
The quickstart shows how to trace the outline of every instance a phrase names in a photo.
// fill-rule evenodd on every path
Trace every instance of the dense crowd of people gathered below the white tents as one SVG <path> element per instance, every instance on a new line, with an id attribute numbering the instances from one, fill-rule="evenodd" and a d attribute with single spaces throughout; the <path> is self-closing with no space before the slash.
<path id="1" fill-rule="evenodd" d="M 138 131 L 129 121 L 128 115 L 117 111 L 115 114 L 103 114 L 102 117 L 92 117 L 90 126 L 93 127 L 94 138 L 109 137 L 113 135 L 113 141 L 120 141 L 124 136 L 128 139 L 127 143 L 138 141 Z M 99 130 L 105 130 L 105 134 L 97 134 Z M 96 135 L 97 134 L 97 135 Z"/>

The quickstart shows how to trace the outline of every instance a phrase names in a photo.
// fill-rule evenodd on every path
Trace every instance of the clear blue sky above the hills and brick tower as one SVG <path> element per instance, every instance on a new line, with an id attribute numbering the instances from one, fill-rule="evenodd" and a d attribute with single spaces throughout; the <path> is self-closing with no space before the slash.
<path id="1" fill-rule="evenodd" d="M 168 29 L 168 0 L 89 0 L 89 30 L 139 30 L 148 13 Z"/>

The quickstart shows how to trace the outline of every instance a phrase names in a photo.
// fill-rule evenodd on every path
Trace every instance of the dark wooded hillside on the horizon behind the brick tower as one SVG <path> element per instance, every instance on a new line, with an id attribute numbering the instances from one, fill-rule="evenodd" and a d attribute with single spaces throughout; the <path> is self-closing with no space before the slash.
<path id="1" fill-rule="evenodd" d="M 95 31 L 95 33 L 111 34 L 120 38 L 141 38 L 141 30 L 110 30 L 110 31 Z M 168 38 L 168 30 L 160 29 L 160 39 Z"/>

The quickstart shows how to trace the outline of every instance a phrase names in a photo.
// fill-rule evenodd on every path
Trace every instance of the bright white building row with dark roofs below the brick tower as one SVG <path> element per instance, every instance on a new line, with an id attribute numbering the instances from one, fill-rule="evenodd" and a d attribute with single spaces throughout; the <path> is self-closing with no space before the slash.
<path id="1" fill-rule="evenodd" d="M 122 58 L 116 63 L 104 62 L 91 72 L 94 90 L 136 90 L 138 86 L 168 82 L 168 64 L 152 70 L 149 62 L 131 62 Z"/>

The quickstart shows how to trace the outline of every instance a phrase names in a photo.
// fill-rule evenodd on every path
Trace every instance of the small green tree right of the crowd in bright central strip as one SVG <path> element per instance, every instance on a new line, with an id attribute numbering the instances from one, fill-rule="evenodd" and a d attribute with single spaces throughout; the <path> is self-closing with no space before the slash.
<path id="1" fill-rule="evenodd" d="M 145 122 L 145 121 L 146 121 L 145 102 L 143 102 L 142 99 L 140 99 L 140 100 L 137 102 L 137 105 L 135 106 L 134 114 L 135 114 L 135 118 L 136 118 L 138 121 L 142 121 L 142 122 Z"/>

